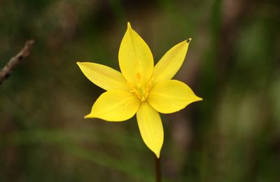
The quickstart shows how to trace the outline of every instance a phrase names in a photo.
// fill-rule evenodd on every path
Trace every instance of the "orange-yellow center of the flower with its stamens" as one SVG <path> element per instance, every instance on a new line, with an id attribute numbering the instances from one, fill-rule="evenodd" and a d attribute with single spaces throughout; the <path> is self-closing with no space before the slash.
<path id="1" fill-rule="evenodd" d="M 127 85 L 129 85 L 130 87 L 130 92 L 134 93 L 134 95 L 141 101 L 141 102 L 146 102 L 146 99 L 148 97 L 148 94 L 151 90 L 152 87 L 152 80 L 153 78 L 151 78 L 151 80 L 148 81 L 148 83 L 145 85 L 141 84 L 141 83 L 137 83 L 137 85 L 131 85 L 130 83 L 127 83 Z"/>

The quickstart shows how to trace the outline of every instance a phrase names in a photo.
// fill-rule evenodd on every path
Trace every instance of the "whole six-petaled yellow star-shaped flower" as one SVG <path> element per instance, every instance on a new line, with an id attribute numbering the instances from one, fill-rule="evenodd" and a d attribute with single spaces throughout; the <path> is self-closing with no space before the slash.
<path id="1" fill-rule="evenodd" d="M 116 122 L 136 113 L 142 139 L 160 158 L 164 134 L 159 113 L 174 113 L 202 100 L 185 83 L 171 80 L 183 64 L 190 40 L 175 45 L 154 66 L 150 48 L 128 22 L 118 53 L 121 73 L 102 64 L 77 62 L 92 83 L 106 90 L 85 118 Z"/>

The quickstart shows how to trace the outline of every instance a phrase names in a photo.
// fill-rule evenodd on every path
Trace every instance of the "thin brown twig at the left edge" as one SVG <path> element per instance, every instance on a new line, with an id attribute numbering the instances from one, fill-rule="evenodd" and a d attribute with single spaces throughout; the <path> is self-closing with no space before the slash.
<path id="1" fill-rule="evenodd" d="M 10 61 L 0 71 L 0 85 L 3 83 L 3 80 L 10 76 L 10 73 L 13 71 L 15 66 L 17 66 L 22 59 L 25 59 L 25 57 L 29 56 L 30 50 L 34 43 L 34 40 L 26 41 L 25 47 L 23 47 L 22 50 L 18 52 L 18 55 L 15 55 L 14 57 L 10 58 Z"/>

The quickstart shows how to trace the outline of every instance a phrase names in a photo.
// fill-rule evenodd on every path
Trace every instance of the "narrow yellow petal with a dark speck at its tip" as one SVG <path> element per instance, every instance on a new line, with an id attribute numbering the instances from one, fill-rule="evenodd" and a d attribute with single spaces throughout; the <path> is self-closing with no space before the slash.
<path id="1" fill-rule="evenodd" d="M 173 78 L 183 64 L 190 40 L 191 38 L 188 38 L 187 41 L 178 43 L 163 55 L 158 64 L 155 65 L 153 72 L 154 83 Z"/>

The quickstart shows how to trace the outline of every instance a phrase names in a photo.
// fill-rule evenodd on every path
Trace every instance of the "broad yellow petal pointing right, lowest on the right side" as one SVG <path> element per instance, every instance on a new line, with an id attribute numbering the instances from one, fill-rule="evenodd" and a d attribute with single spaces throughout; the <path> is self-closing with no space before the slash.
<path id="1" fill-rule="evenodd" d="M 201 100 L 188 85 L 179 80 L 165 80 L 156 84 L 148 96 L 148 103 L 160 113 L 174 113 Z"/>

